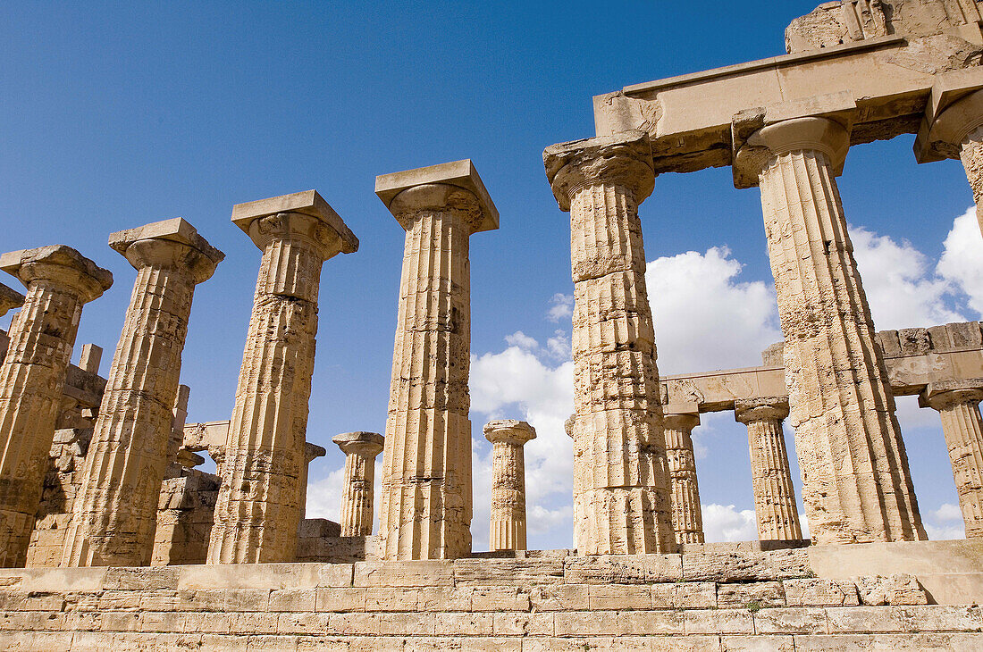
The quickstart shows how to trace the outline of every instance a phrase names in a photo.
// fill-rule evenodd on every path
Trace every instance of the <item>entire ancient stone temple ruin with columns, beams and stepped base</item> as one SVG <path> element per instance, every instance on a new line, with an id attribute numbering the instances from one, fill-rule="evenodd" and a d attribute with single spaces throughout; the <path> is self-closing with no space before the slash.
<path id="1" fill-rule="evenodd" d="M 224 257 L 192 225 L 109 236 L 136 278 L 105 377 L 97 347 L 70 360 L 111 275 L 67 245 L 3 254 L 25 290 L 0 286 L 0 647 L 983 649 L 983 330 L 875 330 L 837 186 L 851 147 L 913 136 L 919 163 L 961 160 L 983 228 L 981 11 L 828 2 L 786 54 L 599 95 L 595 136 L 546 147 L 570 220 L 570 549 L 527 550 L 530 424 L 485 426 L 492 493 L 473 495 L 469 251 L 499 216 L 470 160 L 376 178 L 405 248 L 384 436 L 333 439 L 341 523 L 305 517 L 325 453 L 308 406 L 322 269 L 359 242 L 317 191 L 232 209 L 260 255 L 228 420 L 188 422 L 180 384 Z M 659 175 L 723 166 L 760 193 L 783 342 L 660 376 L 639 205 Z M 899 396 L 939 412 L 965 539 L 926 540 Z M 720 411 L 747 429 L 756 541 L 705 542 L 692 436 Z M 472 550 L 475 500 L 492 552 Z"/>

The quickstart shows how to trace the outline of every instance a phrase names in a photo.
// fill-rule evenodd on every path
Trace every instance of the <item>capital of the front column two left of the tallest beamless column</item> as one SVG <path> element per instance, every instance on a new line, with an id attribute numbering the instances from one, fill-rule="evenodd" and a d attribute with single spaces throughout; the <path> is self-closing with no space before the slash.
<path id="1" fill-rule="evenodd" d="M 135 269 L 161 266 L 189 269 L 195 283 L 211 278 L 225 254 L 209 245 L 183 218 L 152 222 L 109 236 L 109 246 L 122 254 Z"/>

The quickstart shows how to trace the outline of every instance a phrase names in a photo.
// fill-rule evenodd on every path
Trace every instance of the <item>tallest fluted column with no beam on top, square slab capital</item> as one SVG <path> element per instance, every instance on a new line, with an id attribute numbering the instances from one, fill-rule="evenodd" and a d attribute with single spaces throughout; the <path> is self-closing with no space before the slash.
<path id="1" fill-rule="evenodd" d="M 383 559 L 471 553 L 469 239 L 498 228 L 470 160 L 376 177 L 406 230 L 382 458 Z"/>

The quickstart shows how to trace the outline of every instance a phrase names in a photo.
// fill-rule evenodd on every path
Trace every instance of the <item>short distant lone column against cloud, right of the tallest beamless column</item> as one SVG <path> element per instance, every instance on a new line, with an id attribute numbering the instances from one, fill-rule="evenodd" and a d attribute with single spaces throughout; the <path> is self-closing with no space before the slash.
<path id="1" fill-rule="evenodd" d="M 536 428 L 525 421 L 500 419 L 485 424 L 492 442 L 492 516 L 489 550 L 526 549 L 526 442 Z"/>

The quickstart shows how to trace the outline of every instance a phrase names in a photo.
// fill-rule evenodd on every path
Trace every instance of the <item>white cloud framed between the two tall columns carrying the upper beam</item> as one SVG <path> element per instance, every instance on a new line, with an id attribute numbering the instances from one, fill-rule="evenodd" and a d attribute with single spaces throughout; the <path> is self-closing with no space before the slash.
<path id="1" fill-rule="evenodd" d="M 738 281 L 725 246 L 657 258 L 645 273 L 663 374 L 761 364 L 781 341 L 770 283 Z"/>

